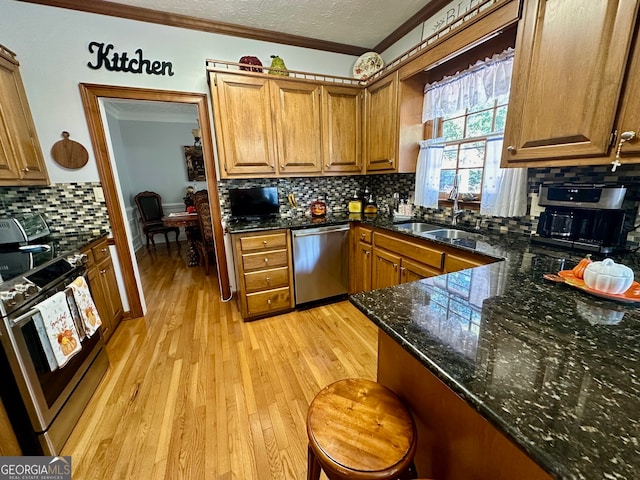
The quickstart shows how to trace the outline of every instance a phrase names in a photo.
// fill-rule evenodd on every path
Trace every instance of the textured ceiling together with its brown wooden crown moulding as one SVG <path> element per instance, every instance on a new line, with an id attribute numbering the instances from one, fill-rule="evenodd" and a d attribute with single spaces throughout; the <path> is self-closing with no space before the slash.
<path id="1" fill-rule="evenodd" d="M 381 53 L 452 0 L 19 0 L 360 55 Z"/>

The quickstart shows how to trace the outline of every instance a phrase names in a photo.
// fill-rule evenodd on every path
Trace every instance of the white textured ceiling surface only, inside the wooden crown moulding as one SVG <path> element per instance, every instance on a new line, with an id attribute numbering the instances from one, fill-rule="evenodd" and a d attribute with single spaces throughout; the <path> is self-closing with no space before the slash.
<path id="1" fill-rule="evenodd" d="M 113 3 L 371 49 L 429 0 L 123 0 Z"/>

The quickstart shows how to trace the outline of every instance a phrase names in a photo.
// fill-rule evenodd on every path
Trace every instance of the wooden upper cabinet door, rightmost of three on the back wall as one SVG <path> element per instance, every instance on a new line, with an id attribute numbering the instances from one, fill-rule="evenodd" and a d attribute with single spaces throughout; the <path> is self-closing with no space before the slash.
<path id="1" fill-rule="evenodd" d="M 359 88 L 322 87 L 325 173 L 362 171 L 362 98 Z"/>

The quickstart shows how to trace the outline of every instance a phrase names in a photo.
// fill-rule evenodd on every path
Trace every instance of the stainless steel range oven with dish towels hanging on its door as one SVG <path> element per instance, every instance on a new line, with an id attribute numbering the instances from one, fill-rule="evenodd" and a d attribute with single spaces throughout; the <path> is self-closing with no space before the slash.
<path id="1" fill-rule="evenodd" d="M 1 237 L 0 237 L 1 240 Z M 28 245 L 1 245 L 2 265 L 27 265 L 13 278 L 0 280 L 0 397 L 24 455 L 58 455 L 78 418 L 109 366 L 98 330 L 84 333 L 71 289 L 67 286 L 86 275 L 85 258 L 74 252 L 56 252 L 40 258 L 40 265 L 7 260 L 31 255 Z M 22 248 L 20 248 L 22 247 Z M 54 249 L 55 252 L 55 249 Z M 9 271 L 8 268 L 0 270 Z M 86 279 L 86 276 L 85 276 Z M 80 339 L 80 350 L 64 366 L 51 367 L 38 334 L 37 306 L 64 291 Z"/>

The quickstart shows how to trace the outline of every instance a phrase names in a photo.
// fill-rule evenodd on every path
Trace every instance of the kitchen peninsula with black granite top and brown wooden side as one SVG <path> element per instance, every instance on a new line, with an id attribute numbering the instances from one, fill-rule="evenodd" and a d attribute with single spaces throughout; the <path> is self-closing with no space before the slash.
<path id="1" fill-rule="evenodd" d="M 416 417 L 420 475 L 637 478 L 636 304 L 543 279 L 575 254 L 482 248 L 505 260 L 351 296 L 380 329 L 378 381 Z"/>

